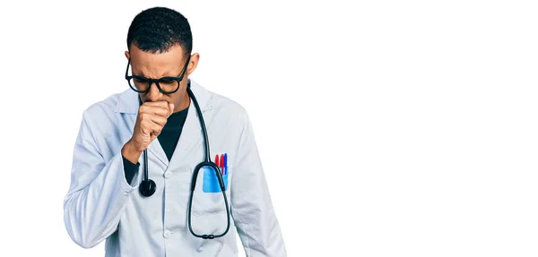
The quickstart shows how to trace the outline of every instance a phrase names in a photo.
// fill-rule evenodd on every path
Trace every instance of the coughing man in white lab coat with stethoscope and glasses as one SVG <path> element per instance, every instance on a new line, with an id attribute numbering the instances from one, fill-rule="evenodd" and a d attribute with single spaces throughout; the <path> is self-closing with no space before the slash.
<path id="1" fill-rule="evenodd" d="M 200 57 L 187 19 L 145 10 L 127 47 L 130 89 L 82 114 L 64 201 L 69 236 L 84 248 L 106 239 L 106 256 L 237 256 L 237 230 L 247 256 L 286 256 L 245 109 L 188 78 Z M 210 158 L 198 111 L 218 174 L 195 173 Z"/>

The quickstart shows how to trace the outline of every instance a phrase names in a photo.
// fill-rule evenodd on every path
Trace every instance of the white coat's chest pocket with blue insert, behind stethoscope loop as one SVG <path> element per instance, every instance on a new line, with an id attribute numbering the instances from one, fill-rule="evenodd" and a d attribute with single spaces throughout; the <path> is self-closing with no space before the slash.
<path id="1" fill-rule="evenodd" d="M 230 178 L 233 167 L 227 167 L 222 175 L 228 206 L 230 207 Z M 221 185 L 215 171 L 211 167 L 202 167 L 196 178 L 196 188 L 193 195 L 192 211 L 194 216 L 212 214 L 226 215 L 226 205 L 221 192 Z M 231 211 L 231 210 L 230 210 Z M 226 216 L 224 216 L 226 217 Z"/>

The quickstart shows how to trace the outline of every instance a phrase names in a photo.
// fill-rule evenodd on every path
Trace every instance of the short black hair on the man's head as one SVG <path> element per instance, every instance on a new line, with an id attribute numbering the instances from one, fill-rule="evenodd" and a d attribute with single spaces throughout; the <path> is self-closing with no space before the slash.
<path id="1" fill-rule="evenodd" d="M 152 7 L 138 13 L 127 32 L 127 48 L 131 44 L 152 54 L 181 46 L 186 56 L 193 48 L 193 35 L 187 18 L 166 7 Z"/>

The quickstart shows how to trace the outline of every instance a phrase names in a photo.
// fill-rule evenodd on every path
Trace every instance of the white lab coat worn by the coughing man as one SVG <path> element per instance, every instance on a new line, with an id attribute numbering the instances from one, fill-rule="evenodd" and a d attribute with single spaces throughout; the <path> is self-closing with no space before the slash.
<path id="1" fill-rule="evenodd" d="M 187 227 L 191 177 L 204 159 L 204 137 L 192 100 L 171 160 L 158 139 L 148 147 L 156 192 L 145 198 L 138 191 L 143 155 L 138 173 L 127 184 L 121 149 L 131 138 L 139 107 L 137 94 L 129 89 L 82 114 L 64 201 L 65 227 L 76 244 L 91 248 L 106 239 L 106 256 L 237 256 L 237 231 L 247 256 L 286 256 L 245 109 L 195 81 L 191 89 L 204 116 L 212 160 L 216 154 L 228 154 L 228 234 L 201 239 Z M 204 169 L 196 180 L 193 229 L 200 235 L 220 234 L 226 227 L 222 193 L 204 193 L 203 184 Z"/>

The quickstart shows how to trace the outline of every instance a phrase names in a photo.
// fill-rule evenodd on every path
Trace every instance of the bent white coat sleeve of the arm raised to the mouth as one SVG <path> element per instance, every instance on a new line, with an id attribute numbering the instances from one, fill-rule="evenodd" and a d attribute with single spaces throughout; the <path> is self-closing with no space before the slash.
<path id="1" fill-rule="evenodd" d="M 71 184 L 64 199 L 64 222 L 74 243 L 100 244 L 117 230 L 137 176 L 127 184 L 121 150 L 105 161 L 86 112 L 74 145 Z"/>

